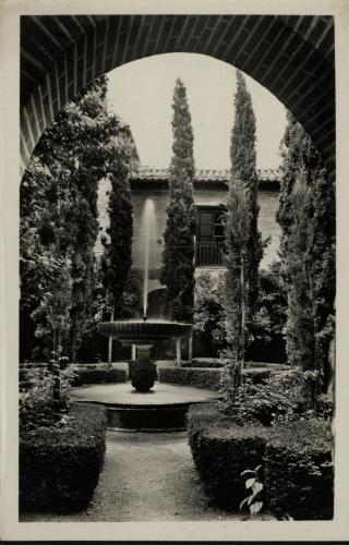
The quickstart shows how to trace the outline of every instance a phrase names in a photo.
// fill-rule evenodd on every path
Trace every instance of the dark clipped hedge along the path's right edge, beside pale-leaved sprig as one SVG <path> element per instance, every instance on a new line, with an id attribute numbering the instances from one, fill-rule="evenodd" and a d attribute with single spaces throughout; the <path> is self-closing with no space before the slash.
<path id="1" fill-rule="evenodd" d="M 191 405 L 189 441 L 195 468 L 206 492 L 219 507 L 237 511 L 245 497 L 241 473 L 261 464 L 270 428 L 260 424 L 239 426 L 216 404 Z M 261 476 L 263 482 L 263 475 Z"/>

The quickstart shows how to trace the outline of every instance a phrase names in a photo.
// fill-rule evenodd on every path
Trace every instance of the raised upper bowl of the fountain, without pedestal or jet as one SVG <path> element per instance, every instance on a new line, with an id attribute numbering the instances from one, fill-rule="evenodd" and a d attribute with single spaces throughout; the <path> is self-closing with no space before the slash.
<path id="1" fill-rule="evenodd" d="M 191 324 L 166 320 L 130 319 L 120 322 L 101 322 L 98 330 L 103 335 L 118 338 L 124 344 L 154 344 L 169 337 L 189 335 Z"/>

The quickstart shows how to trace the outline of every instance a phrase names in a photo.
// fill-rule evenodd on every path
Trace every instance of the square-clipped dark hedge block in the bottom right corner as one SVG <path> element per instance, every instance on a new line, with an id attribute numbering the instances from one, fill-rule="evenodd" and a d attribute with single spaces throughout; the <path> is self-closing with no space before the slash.
<path id="1" fill-rule="evenodd" d="M 333 518 L 334 473 L 328 423 L 278 424 L 265 451 L 265 494 L 279 516 L 297 520 Z"/>

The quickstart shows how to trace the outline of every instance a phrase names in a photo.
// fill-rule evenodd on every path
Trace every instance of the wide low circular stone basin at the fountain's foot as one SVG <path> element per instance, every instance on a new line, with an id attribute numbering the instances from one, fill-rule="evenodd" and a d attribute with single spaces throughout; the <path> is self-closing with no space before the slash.
<path id="1" fill-rule="evenodd" d="M 104 404 L 108 427 L 127 432 L 185 429 L 185 416 L 192 403 L 219 399 L 219 393 L 203 388 L 159 383 L 145 393 L 130 383 L 98 384 L 72 388 L 73 401 Z"/>

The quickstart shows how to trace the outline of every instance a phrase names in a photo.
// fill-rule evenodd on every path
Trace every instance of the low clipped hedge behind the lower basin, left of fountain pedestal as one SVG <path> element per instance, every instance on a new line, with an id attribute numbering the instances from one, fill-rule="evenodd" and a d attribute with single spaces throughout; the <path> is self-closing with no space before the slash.
<path id="1" fill-rule="evenodd" d="M 84 384 L 116 384 L 125 383 L 129 376 L 129 365 L 124 362 L 110 365 L 91 364 L 73 367 L 76 375 L 72 386 Z"/>

